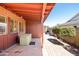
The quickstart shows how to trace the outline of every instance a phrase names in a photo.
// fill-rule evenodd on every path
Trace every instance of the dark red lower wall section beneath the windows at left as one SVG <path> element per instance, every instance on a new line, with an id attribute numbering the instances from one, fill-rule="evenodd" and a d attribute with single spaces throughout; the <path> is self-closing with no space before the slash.
<path id="1" fill-rule="evenodd" d="M 16 43 L 18 33 L 0 35 L 0 50 L 6 49 Z"/>

